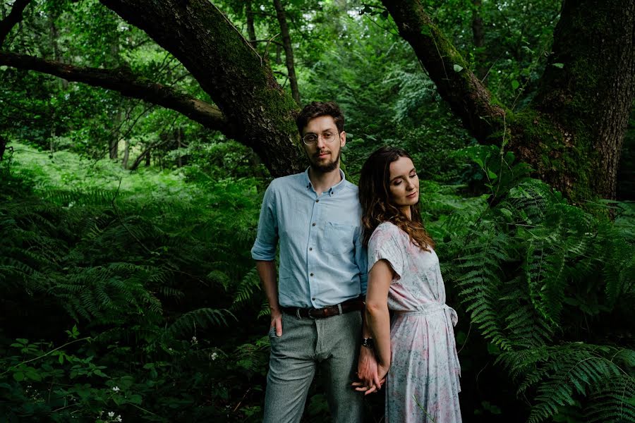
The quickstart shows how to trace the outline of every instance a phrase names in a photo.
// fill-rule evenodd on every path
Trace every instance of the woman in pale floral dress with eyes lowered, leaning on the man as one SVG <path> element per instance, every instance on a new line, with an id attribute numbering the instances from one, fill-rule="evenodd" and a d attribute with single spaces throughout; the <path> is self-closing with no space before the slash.
<path id="1" fill-rule="evenodd" d="M 371 154 L 359 198 L 368 246 L 365 313 L 377 374 L 360 369 L 356 389 L 373 392 L 387 376 L 387 423 L 461 422 L 457 317 L 445 305 L 439 259 L 421 223 L 411 157 L 392 147 Z"/>

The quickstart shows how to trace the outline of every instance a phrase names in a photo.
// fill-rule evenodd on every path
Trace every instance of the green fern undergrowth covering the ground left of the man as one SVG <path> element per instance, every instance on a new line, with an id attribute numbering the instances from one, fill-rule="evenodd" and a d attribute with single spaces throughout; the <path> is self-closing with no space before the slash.
<path id="1" fill-rule="evenodd" d="M 249 256 L 258 181 L 193 184 L 13 147 L 0 165 L 0 415 L 173 422 L 258 412 L 253 379 L 267 356 Z"/>

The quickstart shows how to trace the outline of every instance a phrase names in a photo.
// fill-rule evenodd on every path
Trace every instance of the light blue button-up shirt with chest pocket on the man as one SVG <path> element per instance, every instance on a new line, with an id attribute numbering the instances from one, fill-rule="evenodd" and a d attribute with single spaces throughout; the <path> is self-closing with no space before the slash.
<path id="1" fill-rule="evenodd" d="M 273 261 L 280 242 L 282 307 L 326 307 L 366 293 L 357 187 L 341 181 L 317 195 L 304 173 L 276 178 L 265 192 L 251 257 Z"/>

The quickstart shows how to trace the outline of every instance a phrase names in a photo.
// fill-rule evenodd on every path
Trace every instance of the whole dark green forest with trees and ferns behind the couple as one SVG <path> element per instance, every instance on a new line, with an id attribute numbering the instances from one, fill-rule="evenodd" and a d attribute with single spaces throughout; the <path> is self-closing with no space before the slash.
<path id="1" fill-rule="evenodd" d="M 262 193 L 409 151 L 466 422 L 635 421 L 635 0 L 0 0 L 0 422 L 258 422 Z M 328 419 L 320 381 L 303 422 Z M 382 393 L 368 398 L 381 422 Z M 430 419 L 432 422 L 433 419 Z"/>

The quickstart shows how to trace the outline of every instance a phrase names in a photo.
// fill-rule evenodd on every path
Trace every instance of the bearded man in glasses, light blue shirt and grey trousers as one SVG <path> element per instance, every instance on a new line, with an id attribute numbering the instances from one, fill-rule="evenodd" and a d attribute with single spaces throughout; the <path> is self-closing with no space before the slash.
<path id="1" fill-rule="evenodd" d="M 318 367 L 334 422 L 361 422 L 362 394 L 351 381 L 360 349 L 367 261 L 358 190 L 339 168 L 346 144 L 344 116 L 337 104 L 313 102 L 296 124 L 310 166 L 267 188 L 251 250 L 271 309 L 264 422 L 300 421 Z M 373 358 L 370 349 L 361 353 L 361 362 Z"/>

